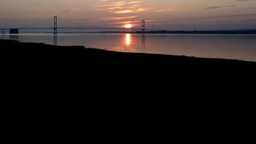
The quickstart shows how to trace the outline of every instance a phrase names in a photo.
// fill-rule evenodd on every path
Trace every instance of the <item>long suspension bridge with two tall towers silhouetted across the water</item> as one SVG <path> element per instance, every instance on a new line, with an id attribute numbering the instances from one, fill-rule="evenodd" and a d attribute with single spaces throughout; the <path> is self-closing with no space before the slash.
<path id="1" fill-rule="evenodd" d="M 52 19 L 52 18 L 50 18 Z M 63 18 L 61 18 L 63 19 Z M 49 20 L 49 19 L 46 19 L 46 20 Z M 130 29 L 130 30 L 140 30 L 142 31 L 142 34 L 145 33 L 145 31 L 161 31 L 159 29 L 145 29 L 145 20 L 142 20 L 142 28 L 141 29 L 135 29 L 135 28 L 105 28 L 105 27 L 90 27 L 90 26 L 84 26 L 84 27 L 58 27 L 57 26 L 57 16 L 54 16 L 54 21 L 53 21 L 53 27 L 39 27 L 39 28 L 30 28 L 29 26 L 33 26 L 33 25 L 36 25 L 36 24 L 39 24 L 41 22 L 44 22 L 46 20 L 43 20 L 43 21 L 40 21 L 38 23 L 35 23 L 35 24 L 30 24 L 28 26 L 23 26 L 23 27 L 19 27 L 19 28 L 0 28 L 1 30 L 1 33 L 2 34 L 5 34 L 5 31 L 8 31 L 9 30 L 9 33 L 10 34 L 18 34 L 19 33 L 19 30 L 21 29 L 53 29 L 53 34 L 57 34 L 57 30 L 58 29 L 115 29 L 115 30 L 127 30 L 127 29 Z M 71 22 L 69 21 L 70 23 L 74 23 L 74 22 Z M 74 23 L 76 24 L 76 23 Z M 81 24 L 80 24 L 81 25 Z"/>

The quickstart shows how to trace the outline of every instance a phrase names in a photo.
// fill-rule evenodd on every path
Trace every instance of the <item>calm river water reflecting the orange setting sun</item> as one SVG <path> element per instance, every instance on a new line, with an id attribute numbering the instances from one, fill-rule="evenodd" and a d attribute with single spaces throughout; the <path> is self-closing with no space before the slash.
<path id="1" fill-rule="evenodd" d="M 186 55 L 256 62 L 256 35 L 227 34 L 0 34 L 0 39 L 83 45 L 118 52 Z"/>

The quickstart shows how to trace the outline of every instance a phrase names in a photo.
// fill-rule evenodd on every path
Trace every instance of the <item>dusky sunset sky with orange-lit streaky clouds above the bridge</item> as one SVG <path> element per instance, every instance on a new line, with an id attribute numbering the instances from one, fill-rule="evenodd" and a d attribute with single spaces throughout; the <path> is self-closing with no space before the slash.
<path id="1" fill-rule="evenodd" d="M 0 28 L 256 29 L 256 0 L 1 0 Z M 132 22 L 133 21 L 133 22 Z M 29 26 L 30 25 L 30 26 Z"/>

